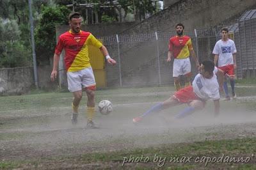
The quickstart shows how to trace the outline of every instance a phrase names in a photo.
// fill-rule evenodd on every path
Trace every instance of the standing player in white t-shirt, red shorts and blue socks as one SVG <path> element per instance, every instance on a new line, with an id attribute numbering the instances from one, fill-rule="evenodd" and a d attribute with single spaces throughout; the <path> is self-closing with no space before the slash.
<path id="1" fill-rule="evenodd" d="M 221 29 L 222 38 L 216 42 L 212 54 L 214 54 L 214 64 L 216 65 L 218 61 L 218 68 L 223 70 L 227 78 L 230 79 L 230 86 L 232 90 L 232 98 L 236 98 L 235 93 L 235 73 L 236 69 L 236 45 L 233 40 L 228 38 L 228 29 L 224 27 Z M 223 82 L 223 88 L 225 91 L 225 100 L 230 100 L 228 95 L 227 80 Z"/>

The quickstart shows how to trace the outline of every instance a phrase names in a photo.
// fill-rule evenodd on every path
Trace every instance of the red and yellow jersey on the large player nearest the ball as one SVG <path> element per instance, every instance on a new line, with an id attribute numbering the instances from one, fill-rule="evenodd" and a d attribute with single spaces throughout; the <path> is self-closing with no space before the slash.
<path id="1" fill-rule="evenodd" d="M 80 31 L 80 33 L 74 34 L 72 31 L 67 31 L 60 35 L 55 48 L 55 54 L 60 55 L 64 48 L 64 61 L 67 72 L 77 72 L 91 66 L 88 45 L 93 45 L 98 48 L 102 47 L 102 43 L 90 32 Z"/>

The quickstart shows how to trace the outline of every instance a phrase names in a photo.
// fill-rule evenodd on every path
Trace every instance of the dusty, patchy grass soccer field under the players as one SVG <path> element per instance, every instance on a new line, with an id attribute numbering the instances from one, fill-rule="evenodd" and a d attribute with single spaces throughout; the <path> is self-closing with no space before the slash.
<path id="1" fill-rule="evenodd" d="M 256 86 L 239 85 L 237 100 L 221 100 L 218 117 L 209 101 L 182 120 L 173 115 L 185 105 L 141 125 L 132 118 L 168 98 L 173 87 L 98 90 L 96 102 L 107 99 L 114 108 L 97 112 L 99 129 L 86 129 L 86 98 L 79 122 L 71 124 L 71 93 L 0 97 L 0 169 L 255 169 Z"/>

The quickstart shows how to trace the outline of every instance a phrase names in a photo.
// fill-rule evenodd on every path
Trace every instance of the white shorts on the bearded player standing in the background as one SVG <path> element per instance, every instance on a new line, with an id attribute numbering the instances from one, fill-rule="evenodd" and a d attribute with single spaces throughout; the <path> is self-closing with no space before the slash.
<path id="1" fill-rule="evenodd" d="M 173 77 L 186 75 L 191 72 L 191 64 L 189 58 L 174 59 L 173 61 Z"/>

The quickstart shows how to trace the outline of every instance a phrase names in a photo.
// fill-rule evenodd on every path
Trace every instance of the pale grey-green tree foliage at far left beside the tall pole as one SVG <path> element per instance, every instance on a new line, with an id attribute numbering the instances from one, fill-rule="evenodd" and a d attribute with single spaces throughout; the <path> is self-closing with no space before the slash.
<path id="1" fill-rule="evenodd" d="M 42 4 L 33 0 L 35 22 Z M 31 66 L 28 8 L 28 0 L 0 0 L 0 67 Z"/>

